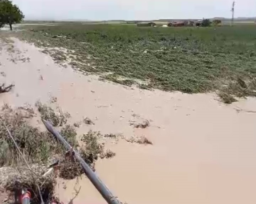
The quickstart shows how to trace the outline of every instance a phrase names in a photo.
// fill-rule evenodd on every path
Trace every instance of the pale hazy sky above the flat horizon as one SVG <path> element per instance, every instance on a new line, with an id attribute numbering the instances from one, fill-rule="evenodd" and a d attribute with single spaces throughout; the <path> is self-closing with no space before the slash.
<path id="1" fill-rule="evenodd" d="M 26 19 L 150 20 L 230 17 L 232 0 L 13 0 Z M 256 0 L 236 0 L 235 17 L 256 16 Z"/>

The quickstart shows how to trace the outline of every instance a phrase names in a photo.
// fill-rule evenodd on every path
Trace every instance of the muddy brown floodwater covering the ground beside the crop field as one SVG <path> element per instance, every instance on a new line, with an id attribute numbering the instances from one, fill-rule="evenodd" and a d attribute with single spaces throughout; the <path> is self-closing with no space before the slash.
<path id="1" fill-rule="evenodd" d="M 49 102 L 55 96 L 72 122 L 94 120 L 94 126 L 82 124 L 80 134 L 91 128 L 103 134 L 145 136 L 153 142 L 107 144 L 116 157 L 96 163 L 97 174 L 123 202 L 256 203 L 255 98 L 225 105 L 214 94 L 131 89 L 62 68 L 17 39 L 15 47 L 31 61 L 15 64 L 2 51 L 0 71 L 6 77 L 0 76 L 0 81 L 14 82 L 15 89 L 0 95 L 1 104 Z M 145 119 L 149 128 L 130 126 L 131 121 Z M 79 183 L 59 180 L 56 193 L 68 203 L 80 186 L 74 204 L 105 203 L 85 177 Z"/>

